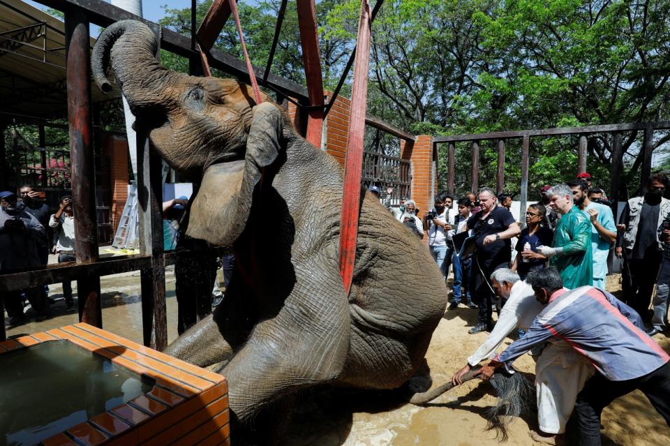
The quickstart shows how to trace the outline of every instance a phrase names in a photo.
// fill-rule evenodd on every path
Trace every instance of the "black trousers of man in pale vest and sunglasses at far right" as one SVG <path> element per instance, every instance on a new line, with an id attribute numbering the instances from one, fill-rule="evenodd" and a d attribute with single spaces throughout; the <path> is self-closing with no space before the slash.
<path id="1" fill-rule="evenodd" d="M 649 304 L 656 284 L 663 253 L 650 248 L 644 257 L 636 260 L 628 256 L 623 260 L 622 288 L 624 302 L 637 311 L 643 321 L 650 320 Z"/>

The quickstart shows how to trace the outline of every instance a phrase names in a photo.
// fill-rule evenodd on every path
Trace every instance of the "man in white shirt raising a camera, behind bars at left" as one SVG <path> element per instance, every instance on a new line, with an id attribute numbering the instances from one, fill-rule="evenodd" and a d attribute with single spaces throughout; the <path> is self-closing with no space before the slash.
<path id="1" fill-rule="evenodd" d="M 58 262 L 76 262 L 75 256 L 75 213 L 72 198 L 66 195 L 59 202 L 59 209 L 50 218 L 49 225 L 54 229 L 53 253 L 58 254 Z M 63 282 L 63 297 L 67 311 L 75 311 L 72 299 L 72 283 Z"/>

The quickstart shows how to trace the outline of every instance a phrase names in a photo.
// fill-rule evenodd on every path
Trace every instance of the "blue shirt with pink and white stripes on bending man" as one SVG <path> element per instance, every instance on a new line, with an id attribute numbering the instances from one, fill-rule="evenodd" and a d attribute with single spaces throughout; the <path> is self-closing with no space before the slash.
<path id="1" fill-rule="evenodd" d="M 592 286 L 553 293 L 526 335 L 493 360 L 510 366 L 514 359 L 552 336 L 566 341 L 612 381 L 639 378 L 670 360 L 647 336 L 636 311 Z"/>

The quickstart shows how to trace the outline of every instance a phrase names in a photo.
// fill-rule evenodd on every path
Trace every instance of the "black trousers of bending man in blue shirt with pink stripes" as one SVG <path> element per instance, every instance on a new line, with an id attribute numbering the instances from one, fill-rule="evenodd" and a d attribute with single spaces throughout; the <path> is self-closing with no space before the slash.
<path id="1" fill-rule="evenodd" d="M 600 415 L 619 396 L 640 389 L 670 426 L 670 362 L 640 378 L 610 381 L 600 373 L 577 395 L 566 431 L 570 445 L 600 446 Z"/>

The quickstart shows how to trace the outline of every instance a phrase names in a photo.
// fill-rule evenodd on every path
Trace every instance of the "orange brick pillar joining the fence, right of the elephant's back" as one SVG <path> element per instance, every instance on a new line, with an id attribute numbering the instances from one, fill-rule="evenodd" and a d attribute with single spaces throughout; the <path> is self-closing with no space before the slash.
<path id="1" fill-rule="evenodd" d="M 433 209 L 433 196 L 437 187 L 435 178 L 435 158 L 433 156 L 433 137 L 418 135 L 415 142 L 401 141 L 401 158 L 412 162 L 412 200 L 417 202 L 419 216 Z M 424 237 L 428 243 L 428 237 Z"/>

